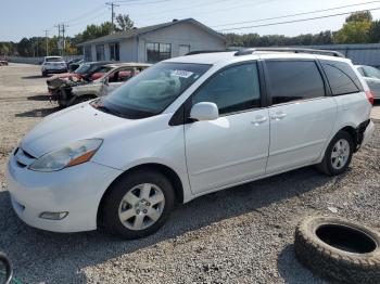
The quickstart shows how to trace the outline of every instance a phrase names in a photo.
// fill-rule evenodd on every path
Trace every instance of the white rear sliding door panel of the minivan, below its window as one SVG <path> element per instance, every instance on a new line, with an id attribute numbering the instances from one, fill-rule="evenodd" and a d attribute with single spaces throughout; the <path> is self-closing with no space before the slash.
<path id="1" fill-rule="evenodd" d="M 337 119 L 333 98 L 269 108 L 270 147 L 266 173 L 309 164 L 321 155 Z"/>

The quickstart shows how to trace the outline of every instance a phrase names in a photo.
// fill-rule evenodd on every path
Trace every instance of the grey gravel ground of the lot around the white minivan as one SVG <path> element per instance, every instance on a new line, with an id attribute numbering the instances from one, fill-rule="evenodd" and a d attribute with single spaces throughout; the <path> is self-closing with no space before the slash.
<path id="1" fill-rule="evenodd" d="M 211 194 L 179 206 L 143 240 L 29 228 L 12 211 L 4 171 L 22 137 L 55 111 L 38 74 L 38 66 L 0 67 L 0 250 L 25 283 L 324 283 L 294 258 L 299 220 L 332 215 L 380 230 L 379 121 L 345 175 L 308 167 Z"/>

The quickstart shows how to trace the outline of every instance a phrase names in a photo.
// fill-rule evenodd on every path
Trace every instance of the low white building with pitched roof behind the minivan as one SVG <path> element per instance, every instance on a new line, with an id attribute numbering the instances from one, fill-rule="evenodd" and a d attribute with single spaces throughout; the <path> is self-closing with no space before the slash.
<path id="1" fill-rule="evenodd" d="M 225 50 L 226 38 L 193 20 L 174 20 L 79 43 L 87 61 L 155 63 L 190 51 Z"/>

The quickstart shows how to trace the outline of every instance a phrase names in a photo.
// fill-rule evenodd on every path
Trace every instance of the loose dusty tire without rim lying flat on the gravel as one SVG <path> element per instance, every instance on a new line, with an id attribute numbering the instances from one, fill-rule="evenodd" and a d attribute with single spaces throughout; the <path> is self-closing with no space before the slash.
<path id="1" fill-rule="evenodd" d="M 332 217 L 306 218 L 295 229 L 296 258 L 340 283 L 380 283 L 380 235 Z"/>

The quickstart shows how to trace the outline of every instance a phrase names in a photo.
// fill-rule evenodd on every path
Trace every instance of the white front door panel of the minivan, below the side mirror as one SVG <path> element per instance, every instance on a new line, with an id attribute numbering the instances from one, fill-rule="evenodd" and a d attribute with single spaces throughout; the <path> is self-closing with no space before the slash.
<path id="1" fill-rule="evenodd" d="M 186 125 L 185 138 L 194 194 L 265 175 L 269 145 L 267 109 Z"/>

